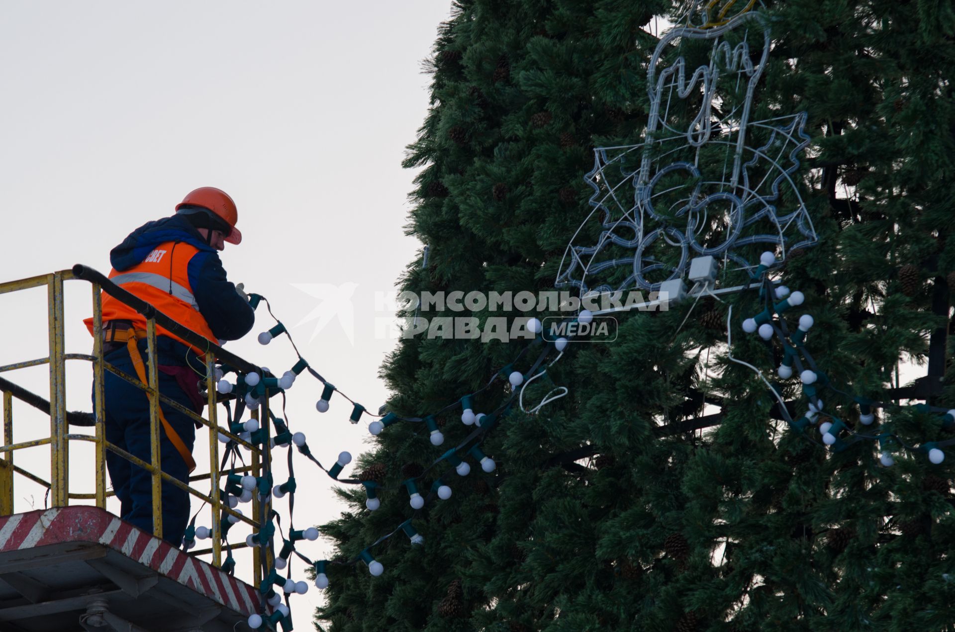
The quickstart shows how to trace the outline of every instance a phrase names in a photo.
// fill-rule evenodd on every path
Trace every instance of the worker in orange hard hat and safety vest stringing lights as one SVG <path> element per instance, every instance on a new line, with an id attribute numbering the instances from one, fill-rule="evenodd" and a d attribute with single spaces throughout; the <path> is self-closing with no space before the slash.
<path id="1" fill-rule="evenodd" d="M 252 328 L 255 314 L 244 293 L 226 279 L 218 251 L 226 242 L 242 242 L 238 220 L 236 204 L 223 190 L 196 189 L 176 206 L 175 215 L 140 226 L 112 250 L 110 279 L 212 343 L 237 340 Z M 105 293 L 102 313 L 105 360 L 145 383 L 150 361 L 145 357 L 146 319 Z M 86 325 L 93 333 L 92 318 Z M 202 413 L 198 383 L 205 376 L 205 349 L 163 327 L 157 327 L 157 333 L 159 392 Z M 105 373 L 104 395 L 106 440 L 151 462 L 147 395 L 112 371 Z M 159 417 L 162 470 L 187 482 L 195 467 L 192 447 L 199 426 L 165 404 L 160 405 Z M 106 453 L 106 466 L 122 518 L 152 533 L 150 474 L 112 452 Z M 188 516 L 189 495 L 163 482 L 162 537 L 179 546 Z"/>

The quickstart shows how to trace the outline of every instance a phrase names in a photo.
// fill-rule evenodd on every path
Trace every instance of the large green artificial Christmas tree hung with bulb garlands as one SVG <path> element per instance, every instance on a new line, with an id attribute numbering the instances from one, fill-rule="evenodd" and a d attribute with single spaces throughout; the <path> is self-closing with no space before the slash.
<path id="1" fill-rule="evenodd" d="M 632 289 L 634 265 L 645 261 L 638 276 L 659 289 L 681 265 L 688 234 L 700 240 L 686 246 L 693 257 L 696 248 L 756 241 L 717 257 L 719 282 L 746 287 L 721 295 L 718 308 L 689 299 L 665 311 L 620 311 L 614 342 L 572 342 L 546 376 L 566 396 L 533 414 L 514 404 L 481 435 L 495 470 L 467 454 L 467 478 L 432 467 L 474 423 L 451 419 L 440 448 L 422 424 L 384 429 L 362 457 L 365 467 L 384 464 L 386 485 L 414 478 L 422 490 L 441 473 L 454 494 L 414 511 L 397 491 L 372 513 L 364 493 L 342 492 L 352 513 L 325 525 L 340 560 L 357 558 L 405 520 L 424 541 L 374 545 L 386 569 L 380 577 L 362 563 L 329 567 L 329 601 L 317 618 L 334 632 L 953 629 L 947 483 L 955 458 L 946 442 L 955 418 L 937 409 L 955 407 L 946 371 L 955 12 L 937 0 L 746 5 L 455 5 L 435 45 L 432 109 L 406 161 L 423 167 L 411 230 L 428 244 L 428 265 L 412 263 L 403 289 L 537 294 L 555 289 L 559 277 Z M 700 17 L 704 10 L 709 18 Z M 761 17 L 718 31 L 741 11 Z M 667 19 L 705 28 L 670 45 Z M 719 32 L 727 47 L 713 53 L 706 32 Z M 676 53 L 688 59 L 685 79 L 708 60 L 721 73 L 712 120 L 697 117 L 708 102 L 700 84 L 669 110 L 653 110 L 647 73 L 661 46 L 661 68 L 678 67 Z M 752 142 L 742 143 L 739 159 L 746 178 L 716 192 L 724 206 L 704 216 L 693 190 L 714 195 L 712 181 L 732 167 L 743 112 L 734 102 L 752 106 Z M 661 203 L 652 221 L 641 206 L 644 223 L 626 224 L 624 234 L 624 224 L 604 221 L 587 203 L 609 173 L 594 170 L 592 149 L 646 142 L 651 115 L 663 121 L 660 134 L 690 130 L 692 142 L 670 157 L 689 166 L 655 180 L 675 193 L 653 199 Z M 668 158 L 666 149 L 647 148 L 651 165 Z M 616 173 L 625 211 L 647 190 L 632 178 L 644 154 L 631 155 Z M 779 168 L 767 167 L 774 162 Z M 780 169 L 785 186 L 773 191 L 769 175 Z M 446 197 L 432 193 L 438 181 Z M 504 181 L 507 195 L 498 198 Z M 760 229 L 790 211 L 788 221 Z M 645 243 L 657 227 L 663 237 Z M 617 241 L 602 238 L 607 231 Z M 568 244 L 579 254 L 602 239 L 610 242 L 606 260 L 621 264 L 589 270 L 584 281 L 562 276 Z M 646 248 L 635 255 L 638 242 Z M 756 274 L 767 249 L 774 263 Z M 744 329 L 770 294 L 789 300 L 775 294 L 780 285 L 799 293 L 798 305 L 769 314 L 767 337 Z M 527 314 L 467 315 L 485 323 Z M 794 336 L 798 357 L 809 353 L 815 369 L 808 359 L 802 370 L 785 364 Z M 515 363 L 520 342 L 400 341 L 383 369 L 394 393 L 389 410 L 423 416 L 478 390 L 474 411 L 495 410 L 520 388 L 503 375 L 481 389 Z M 900 369 L 911 359 L 927 360 L 912 369 L 923 379 Z M 522 378 L 524 360 L 512 367 Z M 930 407 L 908 406 L 915 402 Z M 832 425 L 826 432 L 823 421 Z M 594 454 L 601 456 L 591 463 Z M 445 603 L 456 579 L 467 600 L 444 616 L 457 607 Z"/>

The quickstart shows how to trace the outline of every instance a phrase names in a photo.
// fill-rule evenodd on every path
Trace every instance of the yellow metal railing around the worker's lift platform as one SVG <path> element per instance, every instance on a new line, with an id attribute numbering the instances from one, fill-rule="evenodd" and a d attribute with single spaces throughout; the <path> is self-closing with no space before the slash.
<path id="1" fill-rule="evenodd" d="M 85 354 L 68 354 L 64 348 L 63 342 L 63 315 L 64 315 L 64 305 L 63 305 L 63 284 L 66 281 L 81 279 L 88 281 L 92 284 L 93 287 L 93 322 L 94 322 L 94 331 L 93 331 L 93 355 Z M 11 382 L 0 378 L 0 391 L 3 392 L 3 447 L 0 448 L 0 453 L 3 457 L 0 458 L 0 516 L 10 515 L 13 512 L 13 474 L 21 474 L 31 479 L 32 481 L 42 485 L 47 488 L 50 492 L 50 503 L 53 507 L 65 507 L 70 504 L 72 499 L 83 499 L 83 500 L 96 500 L 96 506 L 105 509 L 106 507 L 106 498 L 108 496 L 114 495 L 112 491 L 106 489 L 106 459 L 105 455 L 107 451 L 116 453 L 119 456 L 130 461 L 134 465 L 146 470 L 150 473 L 152 478 L 152 495 L 153 495 L 153 534 L 156 537 L 161 537 L 162 535 L 162 495 L 161 495 L 161 483 L 163 480 L 179 487 L 181 490 L 187 492 L 190 495 L 193 495 L 197 498 L 200 498 L 203 502 L 208 503 L 212 511 L 212 524 L 210 527 L 210 537 L 212 539 L 212 547 L 210 549 L 205 549 L 202 551 L 195 552 L 194 555 L 201 554 L 212 554 L 212 562 L 220 566 L 222 565 L 222 537 L 221 537 L 221 521 L 223 515 L 233 516 L 239 520 L 249 524 L 252 527 L 253 533 L 257 533 L 262 524 L 261 519 L 256 519 L 257 517 L 261 518 L 262 516 L 267 516 L 269 512 L 269 500 L 266 498 L 263 501 L 259 500 L 258 495 L 254 494 L 252 498 L 253 511 L 252 516 L 243 516 L 238 514 L 229 508 L 227 503 L 223 503 L 223 498 L 220 496 L 220 478 L 228 473 L 223 473 L 219 471 L 219 434 L 222 433 L 224 436 L 229 437 L 233 441 L 237 442 L 239 445 L 244 446 L 249 451 L 251 451 L 251 465 L 244 467 L 241 472 L 250 473 L 256 477 L 259 477 L 263 474 L 265 470 L 269 467 L 269 453 L 268 453 L 268 397 L 267 392 L 263 398 L 263 403 L 261 405 L 261 418 L 263 419 L 262 428 L 265 429 L 265 450 L 260 450 L 257 445 L 248 443 L 244 441 L 241 437 L 230 432 L 230 429 L 223 428 L 219 426 L 217 421 L 217 408 L 220 403 L 220 399 L 217 398 L 216 391 L 216 379 L 215 379 L 215 362 L 218 359 L 221 361 L 227 362 L 230 366 L 242 370 L 242 372 L 248 372 L 252 370 L 260 371 L 261 369 L 252 365 L 242 358 L 225 351 L 223 348 L 220 348 L 216 345 L 211 345 L 204 338 L 198 334 L 192 332 L 191 330 L 186 329 L 186 327 L 176 323 L 173 319 L 157 311 L 152 305 L 148 305 L 140 301 L 137 297 L 129 294 L 122 288 L 118 287 L 115 284 L 112 284 L 107 280 L 103 275 L 92 270 L 90 268 L 84 267 L 82 265 L 74 266 L 73 270 L 62 270 L 59 272 L 53 272 L 52 274 L 32 277 L 29 279 L 21 279 L 19 281 L 11 281 L 8 283 L 0 284 L 0 294 L 8 294 L 15 291 L 21 291 L 25 289 L 30 289 L 33 287 L 41 287 L 46 285 L 47 287 L 47 306 L 48 306 L 48 330 L 49 330 L 49 348 L 50 354 L 45 358 L 39 358 L 35 360 L 28 360 L 23 362 L 18 362 L 10 365 L 0 366 L 0 373 L 5 371 L 10 371 L 13 369 L 23 369 L 26 367 L 40 366 L 44 364 L 50 365 L 50 400 L 47 402 L 43 398 L 13 385 Z M 110 363 L 106 362 L 103 359 L 103 335 L 102 335 L 102 306 L 101 306 L 101 294 L 100 291 L 104 291 L 114 298 L 117 298 L 119 301 L 122 301 L 126 305 L 132 306 L 139 313 L 141 313 L 146 318 L 146 341 L 147 341 L 147 353 L 148 353 L 148 371 L 147 371 L 147 384 L 142 384 L 138 378 L 134 375 L 129 375 Z M 201 415 L 196 414 L 193 411 L 190 411 L 182 407 L 178 402 L 173 401 L 172 399 L 166 397 L 161 392 L 159 392 L 159 369 L 158 363 L 153 361 L 156 358 L 156 345 L 157 345 L 157 334 L 156 326 L 157 323 L 161 327 L 173 331 L 177 336 L 180 336 L 184 340 L 189 340 L 190 337 L 194 337 L 197 343 L 201 343 L 202 347 L 208 348 L 204 353 L 204 362 L 205 362 L 205 388 L 208 393 L 207 398 L 207 410 L 208 418 L 204 418 Z M 193 341 L 190 341 L 193 342 Z M 66 410 L 66 361 L 67 360 L 87 360 L 93 363 L 93 397 L 94 397 L 94 412 L 93 415 L 86 413 L 75 413 L 67 412 Z M 120 378 L 126 380 L 130 384 L 135 385 L 138 389 L 143 390 L 145 393 L 149 394 L 150 407 L 149 407 L 149 422 L 151 430 L 151 458 L 150 462 L 147 463 L 133 454 L 127 453 L 121 448 L 113 445 L 106 440 L 106 434 L 104 432 L 103 426 L 103 411 L 104 411 L 104 398 L 103 398 L 103 378 L 105 376 L 105 371 L 110 371 Z M 34 408 L 47 411 L 50 415 L 50 436 L 40 439 L 34 439 L 32 441 L 23 441 L 21 443 L 13 443 L 13 407 L 12 400 L 13 398 L 23 400 L 31 404 Z M 227 398 L 223 398 L 227 399 Z M 173 476 L 162 472 L 160 468 L 160 457 L 159 457 L 159 439 L 160 439 L 160 421 L 159 421 L 159 402 L 163 406 L 175 409 L 176 411 L 181 412 L 182 414 L 187 415 L 193 421 L 202 424 L 206 427 L 209 432 L 209 471 L 205 474 L 195 474 L 189 477 L 189 483 L 194 483 L 196 481 L 209 480 L 210 481 L 210 494 L 203 494 L 198 489 L 187 485 L 180 480 L 174 478 Z M 92 419 L 90 419 L 92 417 Z M 253 412 L 253 417 L 258 417 L 256 412 Z M 94 434 L 71 434 L 69 432 L 70 421 L 74 420 L 74 423 L 79 422 L 83 425 L 92 425 L 95 428 Z M 92 423 L 91 423 L 92 422 Z M 73 493 L 70 491 L 69 487 L 69 450 L 71 441 L 91 441 L 96 445 L 96 491 L 94 493 Z M 13 454 L 19 450 L 26 450 L 28 448 L 34 448 L 36 446 L 50 445 L 50 480 L 44 480 L 36 474 L 32 474 L 23 468 L 20 468 L 13 464 Z M 198 461 L 199 459 L 197 459 Z M 237 470 L 239 472 L 239 470 Z M 232 549 L 244 548 L 244 542 L 241 544 L 231 545 Z M 252 550 L 253 558 L 253 578 L 254 584 L 259 585 L 262 579 L 263 573 L 263 562 L 271 563 L 270 559 L 263 559 L 262 556 L 270 557 L 271 554 L 267 549 L 262 547 L 255 547 Z"/>

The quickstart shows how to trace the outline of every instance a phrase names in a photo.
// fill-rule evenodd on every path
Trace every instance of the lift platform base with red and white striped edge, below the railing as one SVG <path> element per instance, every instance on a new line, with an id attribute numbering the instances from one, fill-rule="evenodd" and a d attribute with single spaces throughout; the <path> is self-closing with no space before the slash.
<path id="1" fill-rule="evenodd" d="M 252 586 L 97 507 L 0 517 L 0 629 L 231 632 L 259 609 Z"/>

